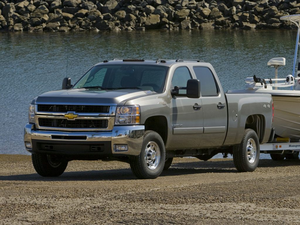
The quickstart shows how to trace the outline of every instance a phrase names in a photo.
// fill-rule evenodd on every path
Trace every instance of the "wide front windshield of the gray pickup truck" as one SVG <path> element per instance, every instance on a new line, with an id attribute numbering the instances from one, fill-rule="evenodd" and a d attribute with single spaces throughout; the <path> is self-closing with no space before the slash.
<path id="1" fill-rule="evenodd" d="M 163 92 L 168 72 L 161 65 L 98 65 L 92 67 L 73 88 L 134 88 Z"/>

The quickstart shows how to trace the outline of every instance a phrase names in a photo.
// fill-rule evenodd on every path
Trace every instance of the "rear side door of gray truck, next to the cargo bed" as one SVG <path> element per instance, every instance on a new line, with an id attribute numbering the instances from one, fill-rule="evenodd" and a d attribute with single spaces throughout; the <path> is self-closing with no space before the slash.
<path id="1" fill-rule="evenodd" d="M 227 106 L 222 88 L 208 67 L 194 66 L 200 81 L 203 135 L 199 147 L 221 146 L 226 136 Z"/>

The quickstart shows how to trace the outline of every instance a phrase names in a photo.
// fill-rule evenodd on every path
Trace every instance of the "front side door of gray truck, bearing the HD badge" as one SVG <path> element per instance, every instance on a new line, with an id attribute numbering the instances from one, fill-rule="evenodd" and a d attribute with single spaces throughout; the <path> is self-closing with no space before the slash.
<path id="1" fill-rule="evenodd" d="M 186 66 L 177 67 L 173 73 L 171 88 L 186 87 L 188 79 L 192 79 L 190 70 Z M 186 94 L 186 90 L 179 90 L 179 94 Z M 201 105 L 200 98 L 171 98 L 172 134 L 167 148 L 182 149 L 199 146 L 203 133 Z"/>

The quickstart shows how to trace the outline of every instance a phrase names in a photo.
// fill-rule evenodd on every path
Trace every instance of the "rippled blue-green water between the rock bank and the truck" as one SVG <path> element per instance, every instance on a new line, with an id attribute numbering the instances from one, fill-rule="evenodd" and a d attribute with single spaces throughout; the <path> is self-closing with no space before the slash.
<path id="1" fill-rule="evenodd" d="M 28 154 L 23 144 L 28 104 L 43 92 L 60 89 L 66 68 L 74 83 L 105 59 L 196 58 L 214 66 L 227 91 L 243 88 L 244 78 L 254 74 L 274 77 L 274 68 L 267 67 L 274 57 L 286 58 L 279 76 L 291 74 L 295 38 L 296 31 L 290 30 L 0 32 L 0 153 Z"/>

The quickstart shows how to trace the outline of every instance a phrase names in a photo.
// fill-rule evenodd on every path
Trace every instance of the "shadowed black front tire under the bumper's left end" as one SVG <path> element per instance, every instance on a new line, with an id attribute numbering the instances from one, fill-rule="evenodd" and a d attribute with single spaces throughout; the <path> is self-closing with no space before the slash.
<path id="1" fill-rule="evenodd" d="M 56 155 L 35 153 L 31 155 L 35 171 L 43 177 L 57 177 L 64 173 L 68 162 Z"/>

